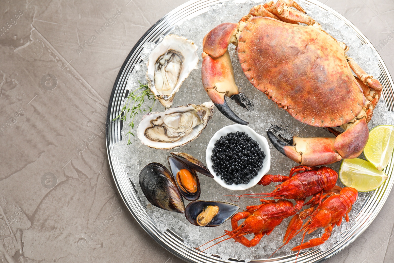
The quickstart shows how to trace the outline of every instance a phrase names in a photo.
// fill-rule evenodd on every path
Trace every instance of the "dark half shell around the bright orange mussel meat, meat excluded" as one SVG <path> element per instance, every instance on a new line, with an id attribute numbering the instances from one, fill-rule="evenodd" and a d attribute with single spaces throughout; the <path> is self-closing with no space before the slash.
<path id="1" fill-rule="evenodd" d="M 168 160 L 168 165 L 170 166 L 171 172 L 172 172 L 172 176 L 173 179 L 175 181 L 175 183 L 178 186 L 178 189 L 180 191 L 180 193 L 182 194 L 182 196 L 189 201 L 194 201 L 200 198 L 200 194 L 201 194 L 201 187 L 200 187 L 200 180 L 198 179 L 198 176 L 196 174 L 196 172 L 187 164 L 184 164 L 183 162 L 179 161 L 177 158 L 175 157 L 167 157 Z M 182 169 L 186 169 L 189 170 L 189 172 L 195 177 L 195 180 L 197 182 L 197 191 L 195 193 L 191 193 L 188 192 L 188 190 L 184 189 L 177 180 L 177 174 L 180 170 Z"/>

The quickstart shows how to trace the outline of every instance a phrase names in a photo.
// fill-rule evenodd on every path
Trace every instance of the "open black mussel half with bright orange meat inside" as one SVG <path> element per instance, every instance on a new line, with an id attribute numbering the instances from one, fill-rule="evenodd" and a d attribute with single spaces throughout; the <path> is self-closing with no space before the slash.
<path id="1" fill-rule="evenodd" d="M 196 172 L 175 157 L 167 157 L 175 183 L 182 196 L 189 201 L 199 199 L 201 189 Z"/>

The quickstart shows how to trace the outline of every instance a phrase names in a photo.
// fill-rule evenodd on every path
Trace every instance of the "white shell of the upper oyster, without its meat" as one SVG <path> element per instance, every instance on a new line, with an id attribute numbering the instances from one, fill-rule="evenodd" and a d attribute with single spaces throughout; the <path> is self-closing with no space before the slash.
<path id="1" fill-rule="evenodd" d="M 163 95 L 156 90 L 154 85 L 156 60 L 170 49 L 180 52 L 184 57 L 184 61 L 182 62 L 182 69 L 180 70 L 177 84 L 170 94 Z M 199 57 L 197 55 L 197 49 L 198 47 L 185 37 L 167 35 L 164 37 L 163 41 L 152 50 L 151 54 L 149 54 L 146 75 L 148 87 L 165 108 L 170 108 L 172 106 L 175 93 L 178 92 L 182 82 L 189 76 L 193 69 L 198 68 Z"/>

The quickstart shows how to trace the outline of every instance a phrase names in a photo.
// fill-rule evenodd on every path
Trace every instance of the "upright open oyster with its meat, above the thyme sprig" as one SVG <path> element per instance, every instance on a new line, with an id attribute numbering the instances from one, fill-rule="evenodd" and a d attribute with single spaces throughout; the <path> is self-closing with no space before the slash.
<path id="1" fill-rule="evenodd" d="M 165 108 L 170 108 L 182 82 L 198 65 L 197 46 L 177 35 L 167 35 L 149 55 L 148 87 Z"/>

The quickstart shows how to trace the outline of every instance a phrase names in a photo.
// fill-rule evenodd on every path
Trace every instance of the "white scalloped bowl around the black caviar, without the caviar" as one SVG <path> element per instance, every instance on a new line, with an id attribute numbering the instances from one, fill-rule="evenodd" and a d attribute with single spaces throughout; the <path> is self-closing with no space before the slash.
<path id="1" fill-rule="evenodd" d="M 264 158 L 263 166 L 258 171 L 258 174 L 252 179 L 250 179 L 249 183 L 238 184 L 238 185 L 236 184 L 227 185 L 224 180 L 220 179 L 220 177 L 216 175 L 214 169 L 212 169 L 212 165 L 213 165 L 213 162 L 211 160 L 212 149 L 214 149 L 216 141 L 219 140 L 221 136 L 226 136 L 227 133 L 229 132 L 237 132 L 237 131 L 245 132 L 253 140 L 255 140 L 259 144 L 260 149 L 264 151 L 264 153 L 266 154 L 266 157 Z M 245 190 L 255 186 L 260 181 L 260 179 L 266 173 L 268 173 L 269 168 L 271 167 L 271 153 L 269 151 L 267 139 L 264 136 L 255 132 L 251 127 L 240 125 L 240 124 L 233 124 L 221 128 L 219 131 L 217 131 L 214 134 L 214 136 L 211 138 L 211 140 L 208 143 L 208 147 L 206 147 L 205 161 L 206 161 L 206 166 L 208 167 L 209 171 L 214 175 L 214 179 L 219 185 L 230 190 Z"/>

